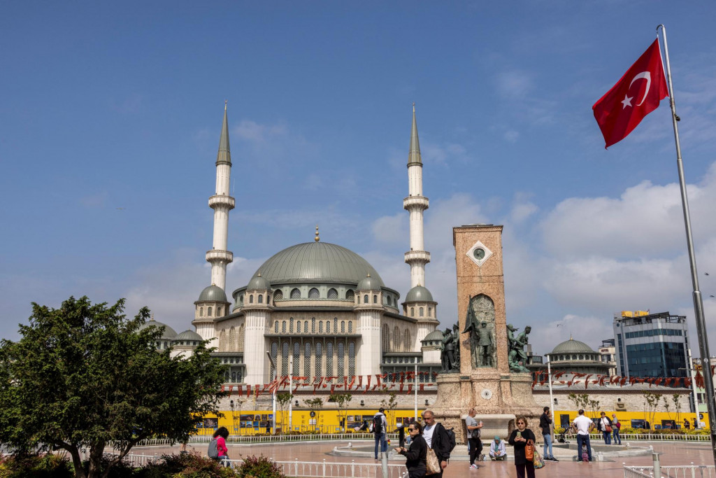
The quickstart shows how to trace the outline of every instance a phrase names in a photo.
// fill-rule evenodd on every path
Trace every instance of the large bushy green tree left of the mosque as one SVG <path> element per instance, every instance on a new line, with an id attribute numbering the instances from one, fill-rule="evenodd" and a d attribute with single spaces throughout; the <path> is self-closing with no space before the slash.
<path id="1" fill-rule="evenodd" d="M 105 478 L 138 441 L 186 441 L 198 417 L 217 413 L 224 367 L 202 343 L 189 357 L 158 350 L 149 316 L 123 315 L 69 297 L 59 309 L 32 304 L 17 342 L 0 343 L 0 441 L 16 454 L 64 449 L 77 478 Z M 89 469 L 80 450 L 89 451 Z M 105 451 L 117 455 L 102 465 Z"/>

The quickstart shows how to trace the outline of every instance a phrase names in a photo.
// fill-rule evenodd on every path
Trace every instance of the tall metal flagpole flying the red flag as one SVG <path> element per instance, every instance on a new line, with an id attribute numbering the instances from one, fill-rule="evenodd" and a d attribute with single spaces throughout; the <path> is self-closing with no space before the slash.
<path id="1" fill-rule="evenodd" d="M 672 108 L 672 123 L 674 123 L 674 139 L 676 140 L 676 163 L 679 169 L 679 186 L 681 186 L 681 202 L 684 209 L 684 224 L 686 226 L 686 242 L 689 249 L 689 262 L 691 265 L 691 282 L 694 287 L 693 300 L 696 317 L 696 332 L 699 338 L 699 351 L 704 367 L 704 388 L 706 391 L 706 406 L 709 411 L 709 428 L 711 434 L 711 451 L 716 463 L 716 396 L 714 396 L 713 377 L 711 375 L 711 363 L 709 353 L 709 342 L 706 335 L 706 321 L 704 317 L 704 303 L 699 290 L 699 276 L 696 271 L 696 254 L 694 253 L 694 239 L 691 234 L 691 217 L 689 213 L 689 199 L 686 193 L 686 182 L 684 181 L 684 163 L 681 159 L 681 144 L 679 143 L 679 127 L 677 122 L 679 116 L 676 114 L 676 102 L 674 101 L 674 86 L 671 80 L 671 65 L 669 64 L 669 47 L 667 46 L 667 29 L 663 24 L 657 27 L 662 29 L 664 38 L 664 57 L 667 61 L 667 83 L 669 85 L 669 104 Z"/>

